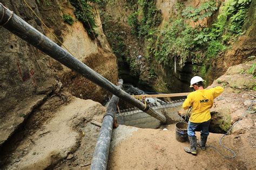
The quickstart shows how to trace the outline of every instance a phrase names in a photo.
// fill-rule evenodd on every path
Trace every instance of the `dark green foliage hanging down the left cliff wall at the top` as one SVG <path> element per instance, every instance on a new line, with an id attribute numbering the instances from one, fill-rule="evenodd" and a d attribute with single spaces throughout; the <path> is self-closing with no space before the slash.
<path id="1" fill-rule="evenodd" d="M 87 30 L 91 39 L 95 39 L 98 36 L 95 28 L 97 27 L 95 22 L 95 14 L 93 8 L 89 3 L 99 3 L 99 0 L 70 0 L 70 3 L 75 6 L 74 11 L 77 19 L 81 21 L 84 28 Z"/>

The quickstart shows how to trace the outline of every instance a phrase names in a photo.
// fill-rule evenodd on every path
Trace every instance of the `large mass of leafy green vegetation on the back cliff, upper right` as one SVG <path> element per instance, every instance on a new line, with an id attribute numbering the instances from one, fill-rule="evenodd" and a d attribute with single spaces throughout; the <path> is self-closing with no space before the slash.
<path id="1" fill-rule="evenodd" d="M 203 19 L 208 21 L 217 10 L 215 1 L 204 2 L 197 8 L 186 9 L 182 3 L 179 3 L 176 6 L 180 8 L 177 9 L 178 18 L 171 18 L 164 28 L 151 29 L 147 33 L 147 58 L 154 57 L 164 66 L 171 67 L 174 57 L 178 59 L 181 67 L 186 62 L 201 64 L 204 60 L 214 58 L 220 51 L 226 50 L 231 38 L 234 39 L 242 34 L 242 26 L 250 3 L 251 0 L 227 1 L 210 28 L 205 28 L 201 23 Z M 131 18 L 135 21 L 136 16 Z M 194 26 L 187 24 L 187 20 L 192 21 Z M 206 75 L 205 66 L 201 66 L 199 70 Z"/>

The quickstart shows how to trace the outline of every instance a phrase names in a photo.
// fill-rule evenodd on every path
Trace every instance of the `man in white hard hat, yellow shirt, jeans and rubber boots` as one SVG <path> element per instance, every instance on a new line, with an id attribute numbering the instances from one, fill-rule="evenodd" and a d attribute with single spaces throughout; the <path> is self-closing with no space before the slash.
<path id="1" fill-rule="evenodd" d="M 196 91 L 188 94 L 187 99 L 183 103 L 185 110 L 193 107 L 187 127 L 190 147 L 185 147 L 184 150 L 195 155 L 197 154 L 196 128 L 200 128 L 201 130 L 199 146 L 201 149 L 205 150 L 211 121 L 210 108 L 213 106 L 213 100 L 224 91 L 223 87 L 220 86 L 204 89 L 203 81 L 204 80 L 199 76 L 195 76 L 191 79 L 190 87 L 193 87 Z"/>

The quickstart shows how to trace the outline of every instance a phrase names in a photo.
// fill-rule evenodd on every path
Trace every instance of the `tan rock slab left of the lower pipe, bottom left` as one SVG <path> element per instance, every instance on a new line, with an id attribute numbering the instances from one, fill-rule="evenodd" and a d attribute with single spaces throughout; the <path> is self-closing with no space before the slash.
<path id="1" fill-rule="evenodd" d="M 95 146 L 90 146 L 88 143 L 96 145 L 98 127 L 93 127 L 95 125 L 89 122 L 91 120 L 100 122 L 106 111 L 105 107 L 92 100 L 70 97 L 69 103 L 53 110 L 55 107 L 53 102 L 58 102 L 59 97 L 53 97 L 50 101 L 51 103 L 46 102 L 42 105 L 28 120 L 28 124 L 32 126 L 26 126 L 25 131 L 30 135 L 26 135 L 21 142 L 16 142 L 18 145 L 16 148 L 4 149 L 7 153 L 8 150 L 13 149 L 11 153 L 1 158 L 5 168 L 45 169 L 63 159 L 73 159 L 73 161 L 78 159 L 80 164 L 78 166 L 82 166 L 90 161 Z M 50 118 L 44 124 L 42 124 L 42 114 Z M 85 153 L 90 154 L 90 158 L 84 159 Z"/>

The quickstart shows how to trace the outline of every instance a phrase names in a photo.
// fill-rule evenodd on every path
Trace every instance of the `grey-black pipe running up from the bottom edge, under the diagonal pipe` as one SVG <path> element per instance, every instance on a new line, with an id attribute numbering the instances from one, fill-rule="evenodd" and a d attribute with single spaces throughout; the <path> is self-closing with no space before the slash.
<path id="1" fill-rule="evenodd" d="M 121 89 L 122 85 L 123 80 L 120 79 L 118 82 L 118 87 Z M 107 167 L 107 159 L 109 158 L 109 147 L 113 129 L 113 121 L 117 110 L 118 100 L 119 98 L 113 95 L 109 102 L 109 105 L 107 106 L 107 111 L 103 118 L 102 127 L 99 131 L 99 137 L 92 158 L 92 170 L 106 169 Z"/>

